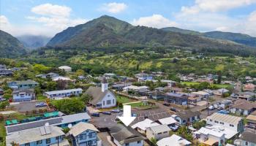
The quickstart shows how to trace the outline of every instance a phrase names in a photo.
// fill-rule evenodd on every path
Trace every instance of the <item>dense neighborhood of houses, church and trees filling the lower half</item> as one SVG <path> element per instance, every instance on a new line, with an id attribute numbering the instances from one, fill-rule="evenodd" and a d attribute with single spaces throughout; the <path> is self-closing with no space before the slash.
<path id="1" fill-rule="evenodd" d="M 94 77 L 42 64 L 33 67 L 39 74 L 26 77 L 28 67 L 8 67 L 0 65 L 8 72 L 1 74 L 3 145 L 256 145 L 253 77 L 244 82 L 215 74 L 178 74 L 173 81 L 164 72 Z M 124 105 L 135 117 L 129 126 L 118 118 Z"/>

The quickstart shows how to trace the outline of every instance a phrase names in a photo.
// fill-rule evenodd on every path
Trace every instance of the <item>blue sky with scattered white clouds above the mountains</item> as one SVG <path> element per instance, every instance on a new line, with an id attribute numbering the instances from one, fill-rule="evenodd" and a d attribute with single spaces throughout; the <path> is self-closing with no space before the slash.
<path id="1" fill-rule="evenodd" d="M 134 26 L 232 31 L 256 37 L 256 0 L 1 0 L 0 28 L 14 36 L 53 37 L 110 15 Z"/>

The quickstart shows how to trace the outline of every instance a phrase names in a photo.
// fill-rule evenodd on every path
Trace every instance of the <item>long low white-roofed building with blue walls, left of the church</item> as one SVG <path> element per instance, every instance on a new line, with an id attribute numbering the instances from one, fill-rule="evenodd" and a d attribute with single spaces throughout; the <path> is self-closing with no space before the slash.
<path id="1" fill-rule="evenodd" d="M 64 97 L 79 96 L 82 93 L 83 89 L 75 88 L 62 91 L 48 91 L 43 93 L 43 95 L 47 96 L 49 99 L 63 99 Z"/>

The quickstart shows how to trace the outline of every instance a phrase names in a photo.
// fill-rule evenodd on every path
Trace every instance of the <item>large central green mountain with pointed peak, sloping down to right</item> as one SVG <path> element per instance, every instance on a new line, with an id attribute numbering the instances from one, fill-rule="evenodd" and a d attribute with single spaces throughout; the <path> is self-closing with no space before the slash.
<path id="1" fill-rule="evenodd" d="M 193 31 L 193 33 L 195 33 Z M 75 27 L 69 27 L 50 39 L 48 47 L 59 48 L 109 48 L 109 47 L 184 47 L 189 49 L 214 49 L 219 52 L 255 48 L 223 39 L 211 39 L 200 35 L 167 31 L 146 26 L 132 26 L 116 18 L 104 15 Z"/>

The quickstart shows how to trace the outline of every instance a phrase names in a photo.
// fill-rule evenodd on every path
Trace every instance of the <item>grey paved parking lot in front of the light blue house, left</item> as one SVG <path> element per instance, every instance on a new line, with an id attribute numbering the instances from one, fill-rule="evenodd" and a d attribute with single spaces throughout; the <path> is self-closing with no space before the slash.
<path id="1" fill-rule="evenodd" d="M 18 112 L 31 112 L 32 110 L 46 109 L 48 107 L 36 107 L 36 104 L 45 103 L 44 101 L 12 102 L 10 105 L 15 107 Z"/>

